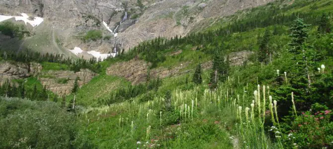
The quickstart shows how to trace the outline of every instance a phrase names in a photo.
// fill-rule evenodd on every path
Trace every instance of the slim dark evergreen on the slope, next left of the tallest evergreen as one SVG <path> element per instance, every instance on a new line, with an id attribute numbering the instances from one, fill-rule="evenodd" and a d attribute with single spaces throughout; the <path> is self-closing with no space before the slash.
<path id="1" fill-rule="evenodd" d="M 258 50 L 258 61 L 259 62 L 266 62 L 268 56 L 269 56 L 269 39 L 270 39 L 270 31 L 267 28 L 265 31 L 265 34 L 263 35 L 261 41 L 258 41 L 259 43 L 259 50 Z"/>

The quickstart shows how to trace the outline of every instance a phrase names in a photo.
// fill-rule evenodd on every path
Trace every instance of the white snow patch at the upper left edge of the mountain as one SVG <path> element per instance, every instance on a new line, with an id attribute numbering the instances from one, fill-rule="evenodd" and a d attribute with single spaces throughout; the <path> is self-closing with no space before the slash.
<path id="1" fill-rule="evenodd" d="M 22 16 L 6 16 L 6 15 L 0 15 L 0 22 L 10 19 L 10 18 L 15 18 L 16 21 L 24 21 L 25 25 L 29 23 L 32 27 L 38 26 L 44 21 L 44 18 L 41 17 L 34 17 L 33 20 L 29 20 L 29 16 L 25 13 L 21 13 Z"/>

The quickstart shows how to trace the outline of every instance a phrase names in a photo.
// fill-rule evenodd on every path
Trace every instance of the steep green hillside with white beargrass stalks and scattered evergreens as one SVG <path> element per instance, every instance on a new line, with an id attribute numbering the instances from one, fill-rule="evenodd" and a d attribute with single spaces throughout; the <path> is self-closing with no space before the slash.
<path id="1" fill-rule="evenodd" d="M 89 65 L 99 75 L 66 102 L 58 102 L 77 116 L 71 145 L 333 148 L 331 1 L 277 0 L 239 12 L 205 32 L 146 41 Z M 252 54 L 235 57 L 246 51 Z M 143 81 L 131 84 L 136 74 L 120 72 L 126 64 L 133 64 L 128 68 L 140 71 Z M 170 70 L 177 72 L 164 75 Z M 1 121 L 14 121 L 7 117 Z M 20 141 L 8 133 L 0 136 Z"/>

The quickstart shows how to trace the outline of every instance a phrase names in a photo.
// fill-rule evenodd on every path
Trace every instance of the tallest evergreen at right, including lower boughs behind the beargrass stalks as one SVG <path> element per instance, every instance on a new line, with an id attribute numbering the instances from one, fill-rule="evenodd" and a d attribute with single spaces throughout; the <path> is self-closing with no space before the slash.
<path id="1" fill-rule="evenodd" d="M 291 92 L 294 93 L 297 110 L 309 110 L 312 104 L 310 93 L 311 80 L 306 58 L 307 48 L 304 46 L 305 39 L 308 36 L 307 26 L 302 19 L 297 18 L 291 28 L 292 42 L 289 45 L 292 46 L 292 50 L 290 52 L 295 55 L 293 59 L 294 65 L 290 69 L 289 83 L 283 84 L 273 91 L 275 93 L 274 97 L 279 102 L 279 109 L 281 109 L 278 112 L 280 116 L 289 115 L 289 111 L 285 109 L 289 109 L 292 106 L 290 100 Z"/>

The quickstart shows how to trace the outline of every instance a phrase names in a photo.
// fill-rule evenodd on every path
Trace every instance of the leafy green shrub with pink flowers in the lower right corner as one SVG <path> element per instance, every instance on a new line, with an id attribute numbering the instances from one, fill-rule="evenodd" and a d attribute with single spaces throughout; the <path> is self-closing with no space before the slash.
<path id="1" fill-rule="evenodd" d="M 332 111 L 303 112 L 291 125 L 286 134 L 286 147 L 311 149 L 332 148 L 333 122 L 330 122 Z"/>

